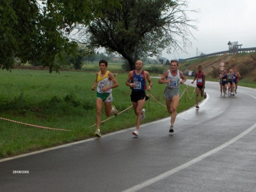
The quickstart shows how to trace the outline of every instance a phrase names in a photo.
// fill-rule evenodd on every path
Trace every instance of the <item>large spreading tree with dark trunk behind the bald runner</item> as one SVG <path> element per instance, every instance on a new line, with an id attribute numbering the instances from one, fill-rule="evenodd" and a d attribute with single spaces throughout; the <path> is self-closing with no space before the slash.
<path id="1" fill-rule="evenodd" d="M 166 48 L 168 53 L 172 49 L 185 51 L 191 45 L 190 29 L 197 28 L 191 24 L 195 20 L 186 15 L 186 1 L 125 0 L 121 4 L 122 9 L 102 10 L 101 17 L 89 26 L 80 27 L 79 41 L 93 48 L 101 46 L 109 52 L 118 52 L 131 69 L 140 58 L 159 56 Z"/>

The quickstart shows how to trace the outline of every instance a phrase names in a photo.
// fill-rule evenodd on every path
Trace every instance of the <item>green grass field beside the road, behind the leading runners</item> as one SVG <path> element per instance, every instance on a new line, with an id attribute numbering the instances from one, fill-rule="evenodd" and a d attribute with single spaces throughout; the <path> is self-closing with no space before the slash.
<path id="1" fill-rule="evenodd" d="M 57 131 L 40 129 L 16 122 L 0 119 L 0 157 L 13 156 L 41 148 L 52 147 L 77 140 L 92 138 L 95 132 L 95 95 L 91 90 L 95 74 L 92 72 L 61 71 L 49 74 L 47 70 L 1 70 L 0 117 L 24 124 L 40 125 Z M 153 75 L 153 74 L 152 74 Z M 155 74 L 156 75 L 156 74 Z M 131 106 L 131 90 L 125 86 L 127 73 L 119 73 L 118 88 L 113 89 L 113 105 L 118 112 Z M 157 84 L 152 78 L 150 92 L 153 97 L 145 102 L 147 117 L 143 122 L 150 122 L 170 116 L 167 113 L 163 97 L 164 84 Z M 186 89 L 180 88 L 180 95 Z M 180 99 L 178 112 L 195 104 L 194 88 Z M 147 92 L 148 94 L 149 92 Z M 189 99 L 189 97 L 192 97 Z M 159 104 L 161 102 L 164 106 Z M 102 111 L 102 120 L 107 117 Z M 136 116 L 132 108 L 102 123 L 102 134 L 134 126 Z M 166 125 L 168 131 L 170 125 Z"/>

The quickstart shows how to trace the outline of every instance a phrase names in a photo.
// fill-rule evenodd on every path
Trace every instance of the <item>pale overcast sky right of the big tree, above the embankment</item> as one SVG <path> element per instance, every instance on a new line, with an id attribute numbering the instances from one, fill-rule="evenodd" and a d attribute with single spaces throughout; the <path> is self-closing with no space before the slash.
<path id="1" fill-rule="evenodd" d="M 228 42 L 243 44 L 241 48 L 256 47 L 255 0 L 187 0 L 187 10 L 200 10 L 199 13 L 188 12 L 190 19 L 198 20 L 189 40 L 191 47 L 186 52 L 173 54 L 163 52 L 162 56 L 172 59 L 186 59 L 196 55 L 227 51 Z M 197 51 L 196 51 L 197 49 Z"/>

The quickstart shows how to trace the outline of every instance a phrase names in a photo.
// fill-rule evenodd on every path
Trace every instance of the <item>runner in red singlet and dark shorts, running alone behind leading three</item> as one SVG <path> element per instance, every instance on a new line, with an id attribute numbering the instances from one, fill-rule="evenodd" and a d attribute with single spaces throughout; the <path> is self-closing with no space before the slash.
<path id="1" fill-rule="evenodd" d="M 202 65 L 198 66 L 198 72 L 196 72 L 196 76 L 191 83 L 193 84 L 195 80 L 196 80 L 196 108 L 199 109 L 199 92 L 201 92 L 201 97 L 204 96 L 204 99 L 206 99 L 207 97 L 206 93 L 204 92 L 205 74 L 202 71 Z"/>

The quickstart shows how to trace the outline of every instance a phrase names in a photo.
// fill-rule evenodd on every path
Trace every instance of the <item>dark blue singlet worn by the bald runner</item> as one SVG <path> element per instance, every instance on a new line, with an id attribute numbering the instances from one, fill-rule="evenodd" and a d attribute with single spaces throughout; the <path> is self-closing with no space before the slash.
<path id="1" fill-rule="evenodd" d="M 130 87 L 132 92 L 145 91 L 147 88 L 147 82 L 145 81 L 146 77 L 144 70 L 141 71 L 139 75 L 136 74 L 135 70 L 132 70 L 132 80 L 131 83 L 134 83 L 134 87 Z"/>

